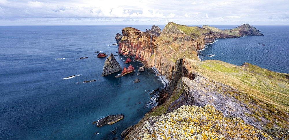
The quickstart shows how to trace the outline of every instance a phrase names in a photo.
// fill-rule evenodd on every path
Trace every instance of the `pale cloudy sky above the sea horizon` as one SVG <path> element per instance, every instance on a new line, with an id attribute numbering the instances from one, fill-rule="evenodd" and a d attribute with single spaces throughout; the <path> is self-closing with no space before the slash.
<path id="1" fill-rule="evenodd" d="M 289 25 L 288 0 L 0 0 L 0 25 Z"/>

